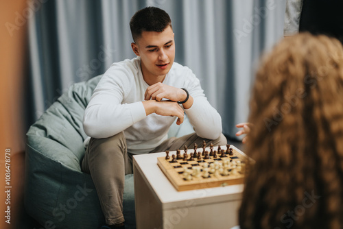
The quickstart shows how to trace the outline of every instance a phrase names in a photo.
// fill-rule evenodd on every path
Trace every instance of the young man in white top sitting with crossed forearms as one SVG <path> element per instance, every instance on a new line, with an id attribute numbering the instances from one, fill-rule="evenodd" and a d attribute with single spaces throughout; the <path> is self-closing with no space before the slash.
<path id="1" fill-rule="evenodd" d="M 144 8 L 130 29 L 137 58 L 114 63 L 106 71 L 84 114 L 91 136 L 82 170 L 91 173 L 107 226 L 123 226 L 124 176 L 132 173 L 132 154 L 176 150 L 185 145 L 225 145 L 222 119 L 209 104 L 200 82 L 174 62 L 175 42 L 169 15 Z M 196 133 L 167 139 L 170 125 L 184 112 Z M 138 190 L 139 191 L 139 190 Z"/>

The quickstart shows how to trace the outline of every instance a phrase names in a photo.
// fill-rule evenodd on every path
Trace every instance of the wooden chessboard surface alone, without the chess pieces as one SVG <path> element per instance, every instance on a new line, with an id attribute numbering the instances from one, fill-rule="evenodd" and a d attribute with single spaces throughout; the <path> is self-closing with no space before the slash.
<path id="1" fill-rule="evenodd" d="M 230 184 L 241 184 L 244 181 L 244 171 L 245 165 L 247 161 L 247 156 L 239 149 L 237 149 L 233 145 L 229 145 L 229 148 L 232 149 L 233 155 L 229 155 L 229 150 L 227 150 L 226 145 L 220 146 L 222 150 L 224 150 L 225 154 L 218 154 L 216 158 L 213 156 L 209 156 L 209 159 L 202 159 L 198 160 L 198 158 L 193 158 L 194 160 L 190 160 L 190 154 L 194 152 L 194 149 L 187 149 L 187 160 L 177 159 L 176 162 L 172 162 L 173 155 L 176 155 L 176 152 L 169 152 L 169 159 L 165 157 L 157 158 L 157 165 L 161 168 L 165 176 L 169 179 L 171 184 L 175 187 L 177 191 L 187 191 L 187 190 L 194 190 L 194 189 L 204 189 L 216 186 L 226 186 Z M 213 151 L 217 152 L 218 147 L 213 147 Z M 202 148 L 196 149 L 197 153 L 201 153 L 204 151 Z M 205 152 L 210 152 L 210 147 L 205 148 Z M 184 150 L 180 150 L 180 154 L 183 157 Z M 228 162 L 225 162 L 228 160 Z M 239 171 L 235 170 L 235 173 L 232 171 L 233 169 L 228 169 L 226 167 L 226 175 L 223 176 L 222 174 L 216 173 L 209 173 L 209 177 L 204 178 L 203 176 L 191 176 L 191 180 L 187 180 L 185 178 L 185 171 L 193 171 L 193 167 L 199 167 L 200 172 L 204 173 L 204 165 L 210 169 L 211 163 L 217 161 L 219 163 L 230 163 L 231 165 L 236 164 L 239 160 L 241 167 Z M 235 162 L 233 162 L 235 161 Z M 207 163 L 207 164 L 206 164 Z M 217 165 L 216 164 L 216 165 Z M 238 164 L 238 162 L 237 162 Z M 236 164 L 236 165 L 237 165 Z M 212 166 L 213 167 L 213 166 Z M 187 169 L 185 169 L 187 168 Z M 192 170 L 190 170 L 192 169 Z M 198 170 L 199 170 L 198 169 Z M 207 170 L 207 169 L 206 169 Z M 213 169 L 212 169 L 213 170 Z"/>

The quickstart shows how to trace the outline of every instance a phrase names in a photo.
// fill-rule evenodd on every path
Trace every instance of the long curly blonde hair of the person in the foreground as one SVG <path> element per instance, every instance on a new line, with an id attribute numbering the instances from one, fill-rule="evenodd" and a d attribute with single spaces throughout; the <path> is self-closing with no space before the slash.
<path id="1" fill-rule="evenodd" d="M 250 99 L 245 228 L 342 228 L 343 48 L 298 34 L 264 56 Z"/>

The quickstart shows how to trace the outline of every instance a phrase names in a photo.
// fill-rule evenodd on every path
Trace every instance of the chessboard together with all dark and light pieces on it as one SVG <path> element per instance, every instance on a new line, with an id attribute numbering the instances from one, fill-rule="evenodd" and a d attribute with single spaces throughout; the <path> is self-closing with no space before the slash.
<path id="1" fill-rule="evenodd" d="M 233 145 L 166 151 L 157 165 L 177 191 L 241 184 L 248 157 Z"/>

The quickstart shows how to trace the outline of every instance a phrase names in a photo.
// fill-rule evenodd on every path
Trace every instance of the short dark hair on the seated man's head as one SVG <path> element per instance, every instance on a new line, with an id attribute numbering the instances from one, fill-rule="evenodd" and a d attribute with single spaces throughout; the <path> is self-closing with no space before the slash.
<path id="1" fill-rule="evenodd" d="M 137 11 L 131 18 L 130 29 L 134 42 L 141 37 L 143 31 L 163 32 L 167 26 L 171 27 L 171 19 L 167 12 L 149 6 Z"/>

